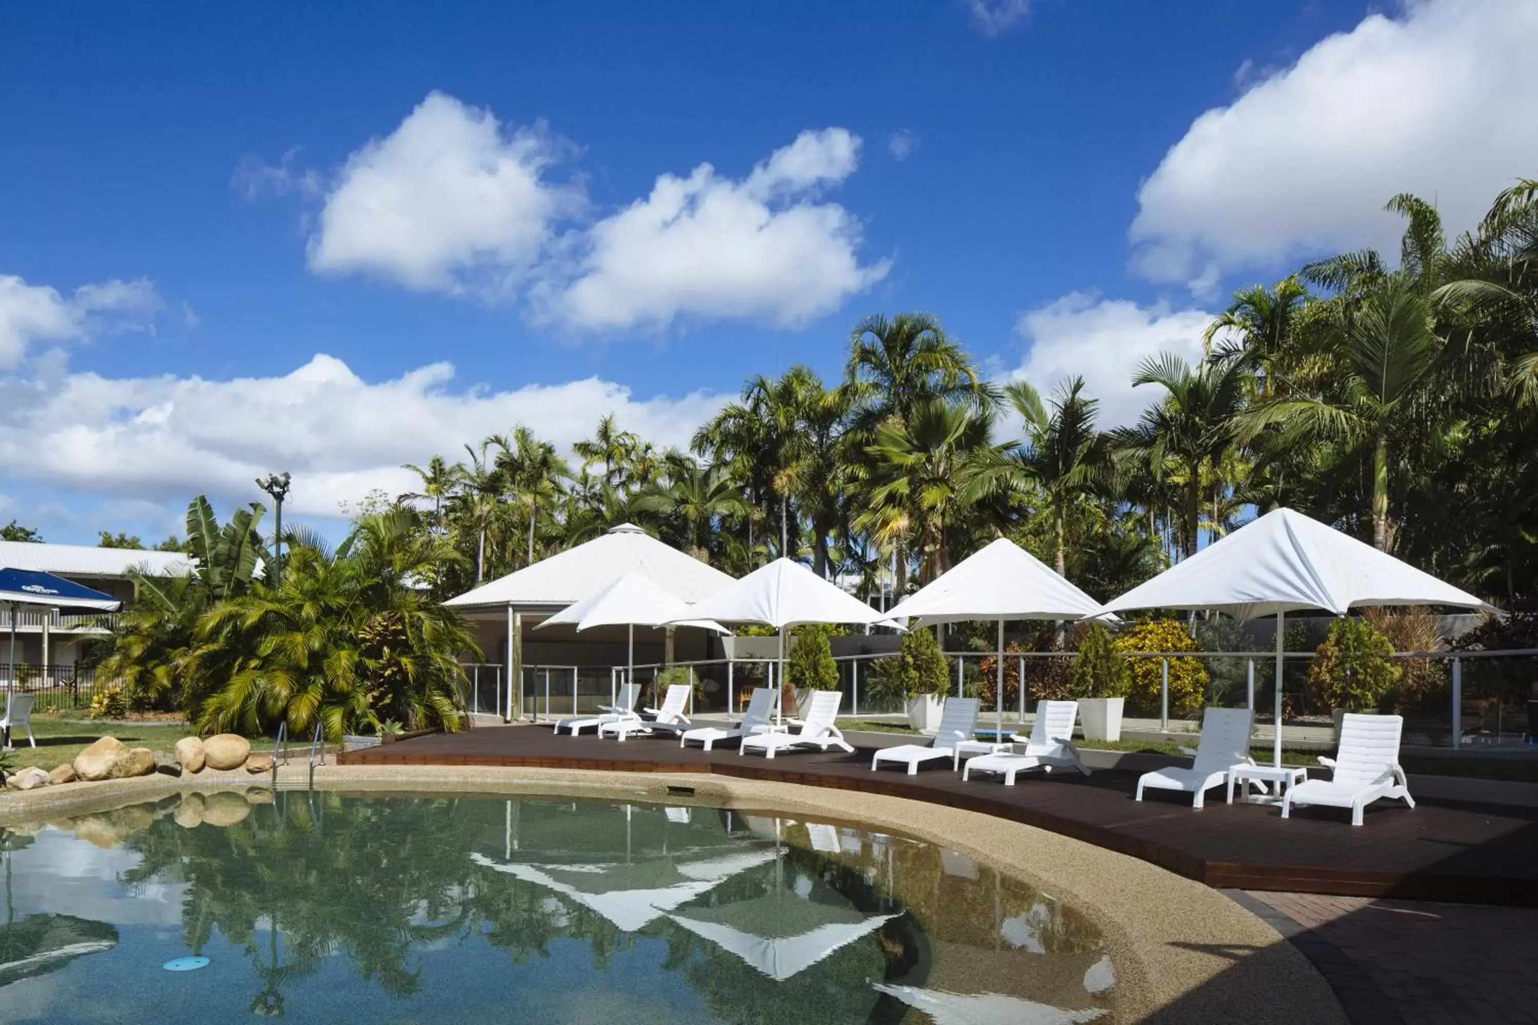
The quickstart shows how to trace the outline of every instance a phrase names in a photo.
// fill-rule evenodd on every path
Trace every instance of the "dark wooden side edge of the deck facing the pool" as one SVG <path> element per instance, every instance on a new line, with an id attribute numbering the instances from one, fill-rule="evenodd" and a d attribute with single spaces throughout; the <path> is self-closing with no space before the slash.
<path id="1" fill-rule="evenodd" d="M 986 787 L 977 794 L 937 793 L 912 778 L 900 773 L 871 773 L 867 776 L 844 776 L 820 773 L 815 768 L 775 764 L 774 759 L 752 761 L 737 755 L 723 755 L 700 761 L 663 759 L 588 759 L 558 758 L 549 755 L 411 755 L 369 748 L 351 751 L 337 758 L 338 765 L 449 765 L 449 767 L 501 767 L 501 768 L 558 768 L 575 771 L 620 773 L 707 773 L 758 782 L 783 782 L 801 787 L 827 787 L 858 793 L 874 793 L 887 798 L 944 804 L 946 807 L 975 811 L 994 818 L 1020 822 L 1049 833 L 1092 844 L 1095 847 L 1127 854 L 1166 871 L 1193 879 L 1220 890 L 1275 890 L 1284 893 L 1318 893 L 1353 897 L 1398 897 L 1407 901 L 1449 901 L 1460 904 L 1500 904 L 1507 907 L 1538 907 L 1538 882 L 1523 879 L 1500 879 L 1483 876 L 1456 876 L 1441 873 L 1375 873 L 1346 868 L 1293 867 L 1293 865 L 1246 865 L 1204 861 L 1198 856 L 1173 850 L 1157 841 L 1141 839 L 1112 828 L 1054 814 L 1040 808 L 1020 807 L 989 796 Z M 937 801 L 938 799 L 938 801 Z"/>

